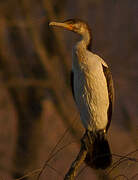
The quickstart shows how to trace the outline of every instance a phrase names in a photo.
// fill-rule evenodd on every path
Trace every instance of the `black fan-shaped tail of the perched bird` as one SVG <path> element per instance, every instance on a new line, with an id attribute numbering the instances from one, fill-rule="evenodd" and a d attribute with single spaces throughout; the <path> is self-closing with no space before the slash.
<path id="1" fill-rule="evenodd" d="M 99 131 L 96 134 L 88 133 L 89 138 L 91 138 L 91 143 L 89 143 L 88 146 L 85 162 L 92 168 L 106 169 L 112 162 L 112 155 L 106 134 L 103 131 Z"/>

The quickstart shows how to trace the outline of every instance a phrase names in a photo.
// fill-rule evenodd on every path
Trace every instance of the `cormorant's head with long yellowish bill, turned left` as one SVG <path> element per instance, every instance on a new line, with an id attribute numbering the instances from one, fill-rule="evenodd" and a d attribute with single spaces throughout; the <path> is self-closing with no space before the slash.
<path id="1" fill-rule="evenodd" d="M 49 25 L 63 27 L 80 35 L 84 35 L 86 32 L 90 31 L 88 24 L 79 19 L 69 19 L 64 22 L 51 22 Z"/>

